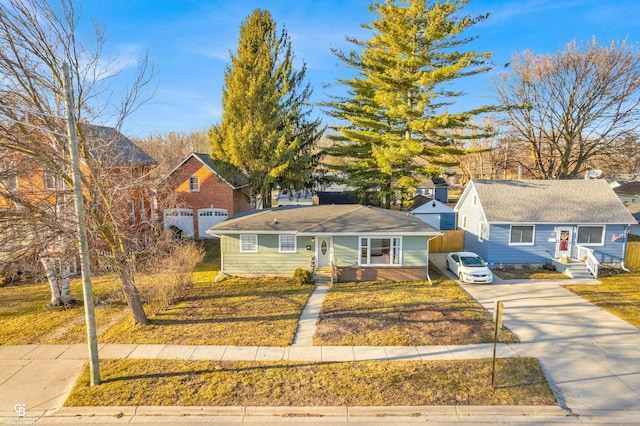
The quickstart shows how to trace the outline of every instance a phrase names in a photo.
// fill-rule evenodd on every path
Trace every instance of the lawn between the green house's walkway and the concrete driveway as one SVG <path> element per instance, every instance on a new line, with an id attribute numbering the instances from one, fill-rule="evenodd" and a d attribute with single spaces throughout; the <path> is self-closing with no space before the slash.
<path id="1" fill-rule="evenodd" d="M 315 345 L 421 346 L 493 342 L 493 319 L 456 283 L 338 283 L 324 300 Z M 508 330 L 501 342 L 517 342 Z"/>

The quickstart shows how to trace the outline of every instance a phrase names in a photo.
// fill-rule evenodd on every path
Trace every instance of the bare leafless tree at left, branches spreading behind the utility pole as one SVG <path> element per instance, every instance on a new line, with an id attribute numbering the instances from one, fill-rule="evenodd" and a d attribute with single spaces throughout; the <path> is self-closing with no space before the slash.
<path id="1" fill-rule="evenodd" d="M 64 120 L 63 63 L 73 80 L 73 114 L 82 157 L 83 192 L 87 220 L 96 241 L 108 247 L 118 272 L 135 323 L 147 323 L 138 296 L 132 262 L 134 237 L 128 223 L 122 223 L 123 185 L 135 189 L 140 176 L 123 179 L 127 165 L 119 162 L 118 138 L 96 137 L 87 129 L 109 120 L 119 128 L 124 118 L 147 100 L 146 88 L 152 78 L 146 56 L 139 61 L 133 81 L 124 86 L 116 99 L 115 77 L 122 69 L 117 61 L 105 61 L 104 29 L 95 26 L 91 46 L 83 43 L 80 17 L 73 0 L 59 3 L 40 0 L 7 0 L 0 3 L 0 149 L 28 158 L 52 180 L 49 199 L 36 202 L 21 192 L 11 198 L 0 191 L 5 202 L 22 212 L 13 219 L 38 219 L 38 227 L 52 230 L 51 235 L 73 236 L 75 217 L 66 210 L 71 188 L 69 154 Z M 114 107 L 115 105 L 115 107 Z M 8 197 L 8 198 L 7 198 Z M 31 198 L 30 198 L 31 197 Z M 46 201 L 46 202 L 45 202 Z M 53 206 L 53 208 L 51 208 Z M 125 207 L 126 208 L 126 207 Z M 45 246 L 56 243 L 44 238 Z"/>

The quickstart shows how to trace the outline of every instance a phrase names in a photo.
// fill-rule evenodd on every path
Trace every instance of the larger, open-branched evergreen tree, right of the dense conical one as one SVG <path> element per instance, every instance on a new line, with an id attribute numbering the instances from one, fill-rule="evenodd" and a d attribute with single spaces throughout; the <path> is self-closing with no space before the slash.
<path id="1" fill-rule="evenodd" d="M 342 166 L 349 183 L 361 193 L 377 190 L 387 208 L 412 196 L 418 179 L 447 165 L 438 157 L 456 150 L 451 142 L 464 134 L 459 130 L 490 110 L 448 110 L 463 93 L 445 83 L 489 70 L 490 53 L 460 50 L 475 39 L 462 32 L 487 17 L 460 16 L 467 3 L 374 1 L 369 10 L 379 18 L 363 24 L 373 36 L 348 38 L 355 50 L 334 51 L 357 74 L 337 82 L 347 86 L 347 95 L 323 103 L 340 123 L 327 153 L 349 158 Z"/>

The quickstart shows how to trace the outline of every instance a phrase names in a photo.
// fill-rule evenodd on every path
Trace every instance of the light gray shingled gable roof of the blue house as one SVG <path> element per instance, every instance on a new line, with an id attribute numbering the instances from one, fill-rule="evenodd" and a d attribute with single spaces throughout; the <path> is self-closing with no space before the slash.
<path id="1" fill-rule="evenodd" d="M 602 179 L 472 180 L 456 205 L 475 188 L 489 223 L 632 224 L 622 201 Z"/>

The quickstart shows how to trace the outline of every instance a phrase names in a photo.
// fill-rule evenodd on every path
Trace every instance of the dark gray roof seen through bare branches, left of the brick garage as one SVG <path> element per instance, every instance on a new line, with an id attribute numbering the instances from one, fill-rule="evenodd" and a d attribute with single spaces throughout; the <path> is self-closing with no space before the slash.
<path id="1" fill-rule="evenodd" d="M 115 166 L 158 164 L 149 154 L 112 127 L 82 125 L 88 149 L 92 156 L 102 158 Z"/>

